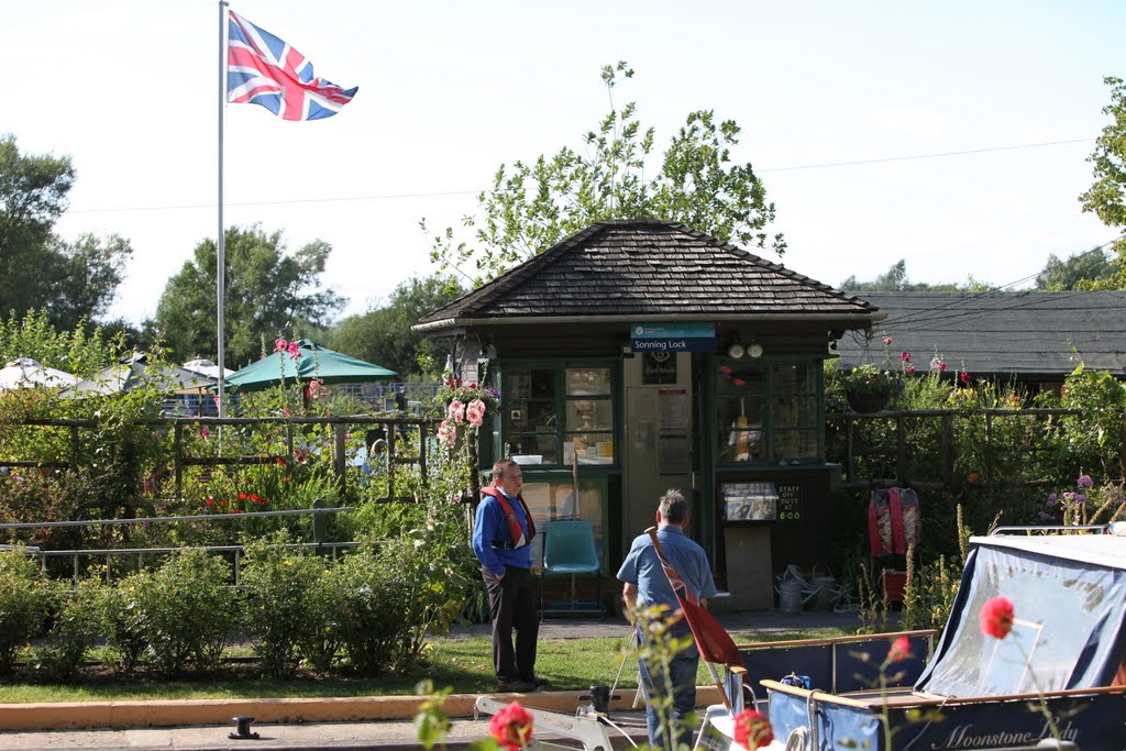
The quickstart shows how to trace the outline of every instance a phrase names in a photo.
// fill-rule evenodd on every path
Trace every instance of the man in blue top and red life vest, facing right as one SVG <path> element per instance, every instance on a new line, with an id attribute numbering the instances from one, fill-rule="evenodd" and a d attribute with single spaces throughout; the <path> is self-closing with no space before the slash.
<path id="1" fill-rule="evenodd" d="M 539 616 L 529 545 L 536 525 L 520 495 L 522 489 L 520 465 L 512 459 L 497 462 L 492 484 L 481 489 L 473 526 L 473 552 L 481 561 L 492 610 L 493 667 L 501 691 L 534 691 L 547 683 L 535 671 Z"/>

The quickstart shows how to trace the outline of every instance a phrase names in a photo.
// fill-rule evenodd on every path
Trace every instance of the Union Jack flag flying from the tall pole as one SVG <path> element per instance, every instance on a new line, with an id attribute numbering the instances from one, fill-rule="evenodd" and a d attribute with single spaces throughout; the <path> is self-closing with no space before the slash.
<path id="1" fill-rule="evenodd" d="M 359 87 L 316 78 L 313 64 L 286 42 L 229 11 L 226 100 L 256 104 L 287 120 L 332 117 Z"/>

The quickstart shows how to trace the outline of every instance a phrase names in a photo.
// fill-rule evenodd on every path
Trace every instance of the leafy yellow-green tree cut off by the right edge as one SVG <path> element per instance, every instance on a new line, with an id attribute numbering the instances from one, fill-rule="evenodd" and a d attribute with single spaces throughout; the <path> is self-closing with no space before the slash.
<path id="1" fill-rule="evenodd" d="M 1102 108 L 1111 122 L 1102 128 L 1102 135 L 1094 140 L 1094 151 L 1087 161 L 1094 182 L 1079 197 L 1084 212 L 1091 212 L 1103 224 L 1118 231 L 1126 231 L 1126 82 L 1120 78 L 1107 77 L 1102 82 L 1110 87 L 1110 104 Z M 1126 236 L 1115 240 L 1115 270 L 1109 276 L 1084 281 L 1083 289 L 1126 288 Z"/>

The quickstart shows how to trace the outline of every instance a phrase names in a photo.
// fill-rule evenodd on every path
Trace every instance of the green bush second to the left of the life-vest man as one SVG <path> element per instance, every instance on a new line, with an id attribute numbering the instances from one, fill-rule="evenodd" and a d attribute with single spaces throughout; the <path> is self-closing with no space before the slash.
<path id="1" fill-rule="evenodd" d="M 315 641 L 325 614 L 314 597 L 324 581 L 324 560 L 284 547 L 287 537 L 247 546 L 242 566 L 244 625 L 261 658 L 262 673 L 288 678 L 297 672 L 301 645 Z"/>

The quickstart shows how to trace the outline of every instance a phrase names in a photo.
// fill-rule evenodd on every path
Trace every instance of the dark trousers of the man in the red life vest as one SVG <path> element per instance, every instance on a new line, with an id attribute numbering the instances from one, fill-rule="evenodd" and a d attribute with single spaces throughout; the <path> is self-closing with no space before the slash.
<path id="1" fill-rule="evenodd" d="M 509 566 L 503 579 L 488 569 L 481 578 L 489 592 L 489 609 L 493 620 L 493 667 L 498 680 L 531 680 L 536 674 L 536 637 L 539 616 L 531 574 L 527 569 Z M 512 649 L 512 632 L 516 649 Z"/>

